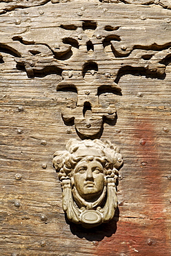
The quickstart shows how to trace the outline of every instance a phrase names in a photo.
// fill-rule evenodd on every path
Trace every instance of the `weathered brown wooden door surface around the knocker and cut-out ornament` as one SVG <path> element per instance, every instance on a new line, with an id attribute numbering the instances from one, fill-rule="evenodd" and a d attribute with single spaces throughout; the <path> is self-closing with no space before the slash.
<path id="1" fill-rule="evenodd" d="M 5 4 L 10 3 L 2 2 L 2 8 Z M 170 255 L 170 15 L 170 10 L 157 4 L 72 1 L 18 6 L 0 16 L 0 255 Z M 104 124 L 101 140 L 119 145 L 124 165 L 117 228 L 112 221 L 92 231 L 66 223 L 60 183 L 52 167 L 54 152 L 63 150 L 68 139 L 78 138 L 74 127 L 64 125 L 61 118 L 61 109 L 76 102 L 77 95 L 56 91 L 61 75 L 54 70 L 34 71 L 28 77 L 25 69 L 16 68 L 19 56 L 4 48 L 13 44 L 28 57 L 24 48 L 30 47 L 28 43 L 12 41 L 21 35 L 26 42 L 48 44 L 52 49 L 61 43 L 63 33 L 69 33 L 59 28 L 61 24 L 84 20 L 120 26 L 121 44 L 127 47 L 141 44 L 147 46 L 145 51 L 168 51 L 165 73 L 145 73 L 142 66 L 125 70 L 118 80 L 122 95 L 99 96 L 102 104 L 112 101 L 117 107 L 117 123 Z M 154 43 L 162 47 L 150 49 Z M 112 56 L 112 70 L 123 58 L 116 60 L 110 49 L 106 51 Z M 140 60 L 137 57 L 137 63 Z M 108 62 L 101 62 L 103 73 L 108 72 Z M 124 63 L 133 65 L 134 57 L 125 57 Z M 155 63 L 158 68 L 160 63 Z"/>

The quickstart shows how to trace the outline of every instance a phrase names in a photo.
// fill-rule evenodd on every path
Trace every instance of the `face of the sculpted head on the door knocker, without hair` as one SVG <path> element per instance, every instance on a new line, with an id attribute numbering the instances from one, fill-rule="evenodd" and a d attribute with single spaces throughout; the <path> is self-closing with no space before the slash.
<path id="1" fill-rule="evenodd" d="M 74 168 L 74 186 L 83 199 L 96 199 L 104 187 L 103 166 L 99 161 L 83 159 Z"/>

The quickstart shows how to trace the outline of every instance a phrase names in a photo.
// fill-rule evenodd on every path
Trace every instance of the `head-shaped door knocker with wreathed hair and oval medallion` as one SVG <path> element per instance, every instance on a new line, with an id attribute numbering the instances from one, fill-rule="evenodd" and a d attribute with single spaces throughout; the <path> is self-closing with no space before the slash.
<path id="1" fill-rule="evenodd" d="M 79 160 L 73 162 L 74 159 Z M 104 161 L 110 170 L 105 170 Z M 92 228 L 114 217 L 116 180 L 122 163 L 119 148 L 98 139 L 70 139 L 66 151 L 54 154 L 53 165 L 63 190 L 63 210 L 70 221 Z"/>

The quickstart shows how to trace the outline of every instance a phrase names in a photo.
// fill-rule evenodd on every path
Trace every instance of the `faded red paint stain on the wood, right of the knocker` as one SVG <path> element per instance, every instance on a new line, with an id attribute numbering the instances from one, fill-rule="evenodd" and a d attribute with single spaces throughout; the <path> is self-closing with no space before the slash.
<path id="1" fill-rule="evenodd" d="M 149 119 L 135 123 L 134 136 L 132 136 L 134 137 L 132 138 L 134 148 L 132 150 L 133 154 L 136 152 L 136 157 L 139 159 L 141 189 L 145 194 L 143 209 L 140 208 L 139 212 L 143 212 L 145 219 L 130 219 L 130 221 L 126 219 L 125 221 L 123 218 L 122 221 L 119 221 L 117 232 L 99 242 L 99 246 L 97 246 L 97 255 L 99 256 L 171 255 L 162 197 L 164 185 L 161 182 L 161 176 L 164 166 L 159 166 L 156 134 Z M 141 191 L 140 194 L 142 194 Z M 138 194 L 136 196 L 139 197 Z M 151 239 L 151 245 L 148 245 L 148 239 Z"/>

